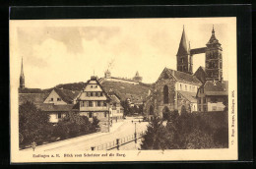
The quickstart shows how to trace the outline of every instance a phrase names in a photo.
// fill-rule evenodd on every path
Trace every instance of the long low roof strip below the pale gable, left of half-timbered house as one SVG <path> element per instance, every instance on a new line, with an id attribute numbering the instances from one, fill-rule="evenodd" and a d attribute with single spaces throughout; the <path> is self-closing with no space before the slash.
<path id="1" fill-rule="evenodd" d="M 54 105 L 49 103 L 36 105 L 37 108 L 45 112 L 74 111 L 74 106 L 74 104 Z"/>

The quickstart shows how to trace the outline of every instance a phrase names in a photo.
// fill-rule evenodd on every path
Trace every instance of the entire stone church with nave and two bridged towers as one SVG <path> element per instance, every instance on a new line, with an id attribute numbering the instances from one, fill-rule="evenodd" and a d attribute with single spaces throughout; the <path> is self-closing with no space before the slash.
<path id="1" fill-rule="evenodd" d="M 198 106 L 199 97 L 203 99 L 202 94 L 198 94 L 199 88 L 203 88 L 211 81 L 221 82 L 223 80 L 223 49 L 215 36 L 214 28 L 206 46 L 191 49 L 183 27 L 176 54 L 177 71 L 164 68 L 161 72 L 160 78 L 152 87 L 145 103 L 144 109 L 148 118 L 152 116 L 164 118 L 171 111 L 178 111 L 180 114 L 202 110 L 202 105 Z M 193 56 L 200 53 L 206 55 L 206 68 L 199 67 L 193 74 Z M 211 90 L 211 87 L 208 87 L 208 90 Z M 218 93 L 216 94 L 215 97 L 218 97 Z"/>

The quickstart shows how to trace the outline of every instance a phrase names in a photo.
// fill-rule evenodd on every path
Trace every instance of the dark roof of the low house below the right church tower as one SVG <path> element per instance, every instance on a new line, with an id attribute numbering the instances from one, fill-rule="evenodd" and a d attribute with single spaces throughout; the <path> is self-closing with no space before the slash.
<path id="1" fill-rule="evenodd" d="M 227 95 L 228 94 L 228 82 L 224 81 L 207 81 L 204 84 L 204 93 L 206 95 Z"/>

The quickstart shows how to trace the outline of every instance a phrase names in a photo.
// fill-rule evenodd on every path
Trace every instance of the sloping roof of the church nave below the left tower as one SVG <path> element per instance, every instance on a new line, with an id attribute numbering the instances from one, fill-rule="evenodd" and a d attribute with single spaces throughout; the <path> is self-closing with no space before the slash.
<path id="1" fill-rule="evenodd" d="M 202 84 L 194 75 L 189 75 L 184 72 L 174 71 L 168 68 L 166 69 L 171 73 L 171 75 L 175 78 L 177 82 L 186 83 L 186 84 L 196 84 L 196 85 Z"/>

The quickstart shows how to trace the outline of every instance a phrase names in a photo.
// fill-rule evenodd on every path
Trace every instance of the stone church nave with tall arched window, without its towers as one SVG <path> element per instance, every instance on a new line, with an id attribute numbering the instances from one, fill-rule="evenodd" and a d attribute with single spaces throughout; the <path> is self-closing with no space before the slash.
<path id="1" fill-rule="evenodd" d="M 197 89 L 201 82 L 193 75 L 164 68 L 145 103 L 149 118 L 171 111 L 197 111 Z"/>

